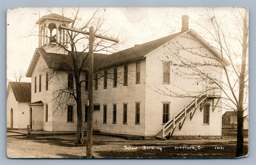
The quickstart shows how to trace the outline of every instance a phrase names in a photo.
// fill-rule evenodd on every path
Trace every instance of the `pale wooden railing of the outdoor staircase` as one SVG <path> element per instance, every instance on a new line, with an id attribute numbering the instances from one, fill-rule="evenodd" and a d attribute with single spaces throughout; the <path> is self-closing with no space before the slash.
<path id="1" fill-rule="evenodd" d="M 187 110 L 189 109 L 189 108 L 191 108 L 191 106 L 193 106 L 193 105 L 195 105 L 195 109 L 197 108 L 197 106 L 203 101 L 203 100 L 201 100 L 200 101 L 200 103 L 199 104 L 197 104 L 197 101 L 198 101 L 198 99 L 202 99 L 202 98 L 207 98 L 206 97 L 206 95 L 201 95 L 199 98 L 195 98 L 195 99 L 192 99 L 188 104 L 186 104 L 185 106 L 184 106 L 184 108 L 182 108 L 182 110 L 180 110 L 178 113 L 176 113 L 174 116 L 173 116 L 173 118 L 171 119 L 171 120 L 169 120 L 169 121 L 167 121 L 164 125 L 163 125 L 163 131 L 162 131 L 162 136 L 163 136 L 163 138 L 168 134 L 168 133 L 170 133 L 171 132 L 171 130 L 174 130 L 175 129 L 175 127 L 177 126 L 177 125 L 175 125 L 175 121 L 177 121 L 183 114 L 184 114 L 184 117 L 186 117 L 188 114 L 187 114 Z M 173 126 L 172 127 L 172 129 L 170 129 L 169 131 L 166 131 L 166 130 L 168 130 L 171 126 Z"/>

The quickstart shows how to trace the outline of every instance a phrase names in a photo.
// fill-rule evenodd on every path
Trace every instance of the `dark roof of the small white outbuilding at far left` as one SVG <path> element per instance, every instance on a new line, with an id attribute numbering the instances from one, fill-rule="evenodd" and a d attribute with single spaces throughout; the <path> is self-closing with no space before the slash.
<path id="1" fill-rule="evenodd" d="M 31 83 L 9 82 L 9 85 L 16 101 L 31 101 Z"/>

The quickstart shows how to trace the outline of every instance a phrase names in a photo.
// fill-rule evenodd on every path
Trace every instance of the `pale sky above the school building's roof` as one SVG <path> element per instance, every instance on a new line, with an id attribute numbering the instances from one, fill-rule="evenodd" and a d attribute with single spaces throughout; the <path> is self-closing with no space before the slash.
<path id="1" fill-rule="evenodd" d="M 79 17 L 86 22 L 97 8 L 79 8 Z M 15 81 L 14 72 L 26 73 L 30 61 L 38 47 L 39 16 L 52 13 L 64 13 L 65 17 L 73 18 L 74 8 L 15 8 L 7 11 L 7 81 Z M 237 29 L 237 9 L 216 8 L 215 12 L 223 26 L 227 29 Z M 105 19 L 104 28 L 110 29 L 108 36 L 117 38 L 124 44 L 118 49 L 123 50 L 135 44 L 143 44 L 172 33 L 181 31 L 182 15 L 189 15 L 189 28 L 195 32 L 207 35 L 195 22 L 209 24 L 205 8 L 105 8 L 98 15 Z M 232 31 L 239 36 L 241 31 Z M 236 34 L 237 33 L 237 34 Z M 209 40 L 208 42 L 211 42 Z M 234 46 L 237 51 L 239 46 Z M 234 49 L 235 50 L 235 49 Z M 104 52 L 101 52 L 104 53 Z M 22 81 L 30 82 L 29 77 Z"/>

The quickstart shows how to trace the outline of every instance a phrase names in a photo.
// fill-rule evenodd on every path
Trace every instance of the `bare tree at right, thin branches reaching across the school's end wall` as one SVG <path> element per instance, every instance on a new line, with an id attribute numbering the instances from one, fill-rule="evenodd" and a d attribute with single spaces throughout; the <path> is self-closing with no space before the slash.
<path id="1" fill-rule="evenodd" d="M 238 36 L 231 38 L 232 32 L 223 30 L 221 18 L 215 14 L 214 8 L 207 9 L 206 22 L 210 23 L 211 27 L 207 27 L 207 23 L 196 23 L 206 32 L 205 37 L 212 41 L 213 46 L 202 38 L 204 44 L 200 46 L 187 45 L 173 40 L 170 43 L 173 47 L 165 46 L 164 55 L 159 56 L 162 62 L 170 62 L 169 67 L 173 74 L 187 79 L 188 82 L 191 80 L 200 88 L 191 91 L 186 87 L 176 86 L 175 88 L 182 89 L 181 92 L 175 91 L 170 86 L 164 86 L 163 89 L 154 85 L 151 89 L 171 97 L 200 97 L 207 92 L 209 94 L 211 91 L 222 91 L 223 95 L 219 95 L 219 99 L 222 100 L 224 107 L 237 112 L 236 157 L 240 157 L 243 156 L 244 145 L 243 120 L 246 117 L 244 111 L 248 110 L 248 93 L 245 92 L 248 90 L 248 67 L 246 67 L 248 66 L 248 11 L 245 8 L 238 8 L 236 12 L 240 13 L 240 18 L 237 20 L 242 22 L 240 24 L 243 30 L 241 38 Z M 182 37 L 191 41 L 197 40 L 195 37 L 186 35 Z M 240 43 L 242 52 L 237 53 L 232 50 L 231 45 L 234 40 Z M 219 57 L 216 58 L 210 55 L 210 52 L 205 51 L 208 48 L 217 50 L 215 54 L 219 54 Z M 188 57 L 184 54 L 192 54 L 192 56 Z"/>

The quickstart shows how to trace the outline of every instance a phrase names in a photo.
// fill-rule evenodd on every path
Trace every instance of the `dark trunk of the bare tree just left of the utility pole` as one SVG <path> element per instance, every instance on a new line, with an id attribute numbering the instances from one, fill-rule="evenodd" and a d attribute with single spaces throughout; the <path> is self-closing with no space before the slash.
<path id="1" fill-rule="evenodd" d="M 81 84 L 79 83 L 79 80 L 76 80 L 75 87 L 76 87 L 76 112 L 77 112 L 76 143 L 84 144 Z"/>

